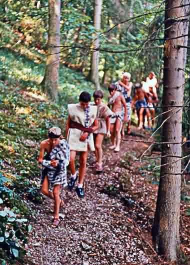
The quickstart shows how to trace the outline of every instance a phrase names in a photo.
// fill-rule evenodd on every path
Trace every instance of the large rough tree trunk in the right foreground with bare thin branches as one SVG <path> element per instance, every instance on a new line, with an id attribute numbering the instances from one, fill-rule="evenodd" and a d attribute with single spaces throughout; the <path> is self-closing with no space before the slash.
<path id="1" fill-rule="evenodd" d="M 188 32 L 188 7 L 178 7 L 190 0 L 166 0 L 163 70 L 163 127 L 160 181 L 156 202 L 152 241 L 158 253 L 176 261 L 179 251 L 179 207 L 181 185 L 181 122 L 184 92 L 184 71 Z M 182 17 L 182 19 L 181 19 Z M 168 39 L 170 38 L 170 39 Z M 176 107 L 175 107 L 176 106 Z M 165 156 L 166 157 L 163 157 Z"/>

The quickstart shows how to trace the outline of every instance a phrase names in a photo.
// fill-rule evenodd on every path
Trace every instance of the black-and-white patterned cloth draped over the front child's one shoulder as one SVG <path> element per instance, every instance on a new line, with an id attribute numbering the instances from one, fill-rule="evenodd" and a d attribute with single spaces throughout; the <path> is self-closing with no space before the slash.
<path id="1" fill-rule="evenodd" d="M 63 187 L 67 186 L 66 166 L 69 163 L 69 156 L 68 143 L 62 139 L 42 160 L 41 183 L 43 183 L 44 177 L 47 176 L 51 187 L 57 184 L 61 184 Z M 56 167 L 50 165 L 50 160 L 53 159 L 58 160 Z"/>

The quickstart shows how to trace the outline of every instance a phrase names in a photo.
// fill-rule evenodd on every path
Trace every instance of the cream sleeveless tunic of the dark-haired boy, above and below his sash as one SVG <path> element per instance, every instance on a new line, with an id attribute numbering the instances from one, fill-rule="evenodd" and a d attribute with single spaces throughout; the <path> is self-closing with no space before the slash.
<path id="1" fill-rule="evenodd" d="M 97 107 L 88 105 L 83 109 L 79 103 L 68 104 L 68 114 L 72 121 L 76 121 L 84 127 L 90 127 L 97 113 Z M 77 128 L 69 128 L 67 135 L 67 142 L 70 146 L 70 150 L 74 151 L 87 151 L 88 147 L 91 151 L 94 151 L 93 134 L 89 133 L 88 137 L 84 141 L 80 141 L 79 138 L 83 134 L 83 131 Z"/>

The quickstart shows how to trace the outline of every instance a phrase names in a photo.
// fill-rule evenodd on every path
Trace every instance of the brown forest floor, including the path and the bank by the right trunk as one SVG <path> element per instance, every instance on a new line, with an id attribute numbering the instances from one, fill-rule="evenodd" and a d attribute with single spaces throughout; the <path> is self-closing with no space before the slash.
<path id="1" fill-rule="evenodd" d="M 155 166 L 156 159 L 140 163 L 137 157 L 148 147 L 142 141 L 150 133 L 144 131 L 140 135 L 135 131 L 133 127 L 133 135 L 138 136 L 125 136 L 118 153 L 108 149 L 110 143 L 105 142 L 103 172 L 96 173 L 94 154 L 89 154 L 85 197 L 79 199 L 74 188 L 62 191 L 64 206 L 57 228 L 51 227 L 51 200 L 44 197 L 41 204 L 32 205 L 37 217 L 26 245 L 25 264 L 162 263 L 151 246 L 150 235 L 158 188 L 150 163 Z M 151 153 L 158 155 L 158 151 Z M 188 220 L 187 216 L 181 217 L 186 229 L 183 237 L 187 237 Z M 182 246 L 189 253 L 187 240 L 189 236 L 183 238 Z"/>

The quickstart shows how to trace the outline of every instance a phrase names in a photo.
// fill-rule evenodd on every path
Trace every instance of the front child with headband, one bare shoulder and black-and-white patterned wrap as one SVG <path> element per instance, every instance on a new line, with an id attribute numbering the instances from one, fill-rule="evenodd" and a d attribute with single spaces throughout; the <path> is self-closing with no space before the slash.
<path id="1" fill-rule="evenodd" d="M 48 131 L 48 139 L 42 140 L 39 146 L 38 161 L 41 169 L 41 192 L 54 200 L 54 219 L 52 226 L 58 226 L 59 207 L 63 204 L 60 199 L 60 186 L 67 186 L 66 166 L 69 163 L 69 146 L 64 139 L 60 139 L 61 130 L 52 127 Z M 46 155 L 44 156 L 44 153 Z M 49 191 L 52 187 L 52 191 Z"/>

